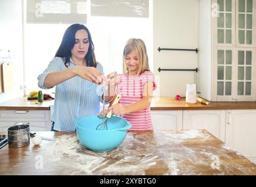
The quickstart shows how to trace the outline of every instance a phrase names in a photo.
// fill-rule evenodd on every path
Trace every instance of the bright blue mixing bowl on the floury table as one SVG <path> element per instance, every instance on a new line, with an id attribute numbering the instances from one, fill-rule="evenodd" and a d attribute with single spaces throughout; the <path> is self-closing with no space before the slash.
<path id="1" fill-rule="evenodd" d="M 105 119 L 104 119 L 105 120 Z M 107 120 L 107 130 L 96 130 L 103 122 L 97 116 L 80 117 L 75 120 L 76 135 L 87 148 L 97 152 L 110 151 L 119 146 L 132 124 L 122 117 L 112 116 Z"/>

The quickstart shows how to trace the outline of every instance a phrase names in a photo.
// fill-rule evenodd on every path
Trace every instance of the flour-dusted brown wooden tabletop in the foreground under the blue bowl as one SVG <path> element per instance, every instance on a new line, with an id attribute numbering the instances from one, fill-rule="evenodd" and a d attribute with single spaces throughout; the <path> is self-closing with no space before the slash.
<path id="1" fill-rule="evenodd" d="M 256 175 L 256 165 L 206 130 L 130 131 L 119 147 L 96 153 L 75 132 L 0 150 L 0 175 Z"/>

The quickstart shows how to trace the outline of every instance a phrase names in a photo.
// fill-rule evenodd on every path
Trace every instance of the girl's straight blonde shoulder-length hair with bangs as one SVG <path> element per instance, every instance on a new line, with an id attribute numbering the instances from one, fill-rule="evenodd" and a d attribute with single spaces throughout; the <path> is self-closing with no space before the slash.
<path id="1" fill-rule="evenodd" d="M 125 63 L 125 56 L 132 53 L 135 50 L 139 58 L 139 69 L 137 74 L 142 74 L 144 71 L 150 71 L 149 69 L 149 58 L 147 57 L 147 49 L 142 39 L 129 39 L 126 41 L 126 46 L 123 50 L 123 74 L 129 74 L 129 70 Z"/>

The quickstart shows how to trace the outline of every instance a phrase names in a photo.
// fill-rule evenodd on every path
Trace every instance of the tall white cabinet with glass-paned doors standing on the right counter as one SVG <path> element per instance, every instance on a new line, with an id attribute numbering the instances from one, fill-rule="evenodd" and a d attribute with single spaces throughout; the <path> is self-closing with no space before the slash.
<path id="1" fill-rule="evenodd" d="M 256 1 L 200 0 L 199 92 L 256 101 Z"/>

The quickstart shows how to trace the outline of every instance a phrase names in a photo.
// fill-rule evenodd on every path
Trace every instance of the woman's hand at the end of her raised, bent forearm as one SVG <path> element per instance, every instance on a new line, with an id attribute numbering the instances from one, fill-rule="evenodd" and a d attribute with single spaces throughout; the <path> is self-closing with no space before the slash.
<path id="1" fill-rule="evenodd" d="M 107 81 L 107 78 L 95 67 L 76 66 L 73 68 L 73 72 L 80 78 L 96 84 L 102 84 L 103 81 Z"/>

